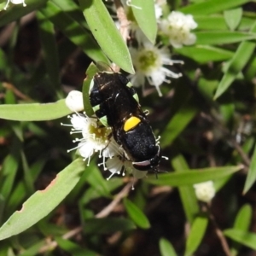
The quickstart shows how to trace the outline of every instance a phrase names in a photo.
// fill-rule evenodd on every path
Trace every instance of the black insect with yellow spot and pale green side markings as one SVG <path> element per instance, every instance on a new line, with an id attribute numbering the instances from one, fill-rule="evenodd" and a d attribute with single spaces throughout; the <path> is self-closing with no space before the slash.
<path id="1" fill-rule="evenodd" d="M 157 173 L 159 142 L 129 80 L 121 73 L 96 73 L 90 84 L 90 104 L 102 125 L 111 127 L 124 159 L 139 171 Z"/>

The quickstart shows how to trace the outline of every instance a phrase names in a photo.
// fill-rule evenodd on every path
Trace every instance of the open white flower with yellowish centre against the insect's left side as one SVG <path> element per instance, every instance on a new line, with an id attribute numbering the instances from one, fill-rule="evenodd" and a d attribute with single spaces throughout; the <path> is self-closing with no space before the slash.
<path id="1" fill-rule="evenodd" d="M 115 142 L 109 139 L 111 128 L 99 126 L 96 117 L 89 118 L 84 114 L 74 113 L 69 118 L 72 125 L 66 126 L 73 127 L 71 133 L 81 133 L 83 137 L 75 139 L 73 143 L 79 143 L 78 146 L 68 150 L 68 152 L 78 149 L 84 160 L 88 160 L 88 166 L 92 154 L 99 152 L 99 157 L 103 156 L 103 164 L 105 166 L 105 158 L 112 157 L 115 154 L 114 152 L 118 152 L 117 147 L 114 145 Z"/>

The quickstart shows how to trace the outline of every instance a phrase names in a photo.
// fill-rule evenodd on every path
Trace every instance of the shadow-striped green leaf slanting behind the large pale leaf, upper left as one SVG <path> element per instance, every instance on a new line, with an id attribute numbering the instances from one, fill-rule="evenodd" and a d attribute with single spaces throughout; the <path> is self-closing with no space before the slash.
<path id="1" fill-rule="evenodd" d="M 40 12 L 47 17 L 73 44 L 78 45 L 86 55 L 93 61 L 104 61 L 108 63 L 108 58 L 95 40 L 90 36 L 89 32 L 68 13 L 63 12 L 58 5 L 48 1 L 44 9 Z"/>

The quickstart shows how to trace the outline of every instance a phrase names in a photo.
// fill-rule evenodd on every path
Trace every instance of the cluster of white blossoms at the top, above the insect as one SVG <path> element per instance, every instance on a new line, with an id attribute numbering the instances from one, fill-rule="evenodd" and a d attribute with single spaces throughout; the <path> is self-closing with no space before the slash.
<path id="1" fill-rule="evenodd" d="M 158 33 L 168 38 L 169 41 L 169 45 L 162 47 L 160 44 L 154 45 L 148 41 L 148 38 L 137 25 L 134 15 L 132 15 L 131 1 L 124 3 L 130 24 L 131 38 L 137 41 L 137 47 L 129 48 L 136 69 L 136 73 L 130 76 L 131 82 L 134 86 L 144 86 L 148 82 L 148 84 L 155 86 L 159 96 L 162 96 L 161 84 L 170 83 L 171 79 L 177 79 L 181 76 L 181 73 L 174 73 L 168 67 L 173 64 L 183 64 L 183 61 L 172 60 L 168 46 L 181 48 L 183 45 L 195 44 L 195 34 L 190 31 L 197 26 L 192 15 L 183 15 L 177 11 L 172 11 L 170 15 L 163 18 L 162 8 L 165 5 L 165 0 L 156 1 L 154 4 Z M 137 9 L 143 9 L 143 7 L 137 7 Z"/>

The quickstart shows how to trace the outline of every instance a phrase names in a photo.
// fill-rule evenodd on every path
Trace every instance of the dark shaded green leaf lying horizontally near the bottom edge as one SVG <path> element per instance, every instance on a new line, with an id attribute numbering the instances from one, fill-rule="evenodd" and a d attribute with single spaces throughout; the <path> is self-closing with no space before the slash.
<path id="1" fill-rule="evenodd" d="M 136 226 L 127 218 L 87 218 L 84 221 L 85 234 L 109 234 L 134 229 Z"/>

